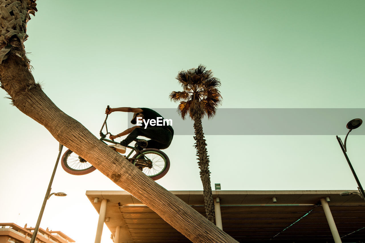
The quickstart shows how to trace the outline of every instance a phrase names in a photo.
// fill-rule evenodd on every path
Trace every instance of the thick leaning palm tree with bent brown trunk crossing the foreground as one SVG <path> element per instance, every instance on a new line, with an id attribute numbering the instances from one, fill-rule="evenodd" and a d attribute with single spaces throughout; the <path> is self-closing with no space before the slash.
<path id="1" fill-rule="evenodd" d="M 61 111 L 34 81 L 24 51 L 26 22 L 37 11 L 35 0 L 0 0 L 0 81 L 12 103 L 43 125 L 64 146 L 87 159 L 192 242 L 235 242 L 178 197 L 97 139 Z"/>

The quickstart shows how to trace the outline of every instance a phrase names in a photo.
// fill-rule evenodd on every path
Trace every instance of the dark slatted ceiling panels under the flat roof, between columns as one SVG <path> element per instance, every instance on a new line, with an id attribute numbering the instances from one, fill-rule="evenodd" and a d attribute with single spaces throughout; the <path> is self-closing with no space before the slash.
<path id="1" fill-rule="evenodd" d="M 193 208 L 204 212 L 202 206 Z M 120 207 L 119 210 L 134 242 L 190 242 L 147 207 Z M 333 241 L 320 205 L 222 205 L 221 212 L 223 230 L 239 242 Z M 345 236 L 343 242 L 365 239 L 365 205 L 331 205 L 331 212 L 340 236 Z"/>

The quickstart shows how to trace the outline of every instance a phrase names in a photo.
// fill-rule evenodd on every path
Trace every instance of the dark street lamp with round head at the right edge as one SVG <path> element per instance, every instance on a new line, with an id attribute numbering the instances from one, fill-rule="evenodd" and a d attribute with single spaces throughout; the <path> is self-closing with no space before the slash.
<path id="1" fill-rule="evenodd" d="M 340 147 L 341 147 L 341 149 L 342 149 L 343 155 L 345 155 L 345 158 L 346 158 L 346 160 L 347 160 L 347 163 L 349 163 L 349 166 L 350 166 L 350 169 L 351 169 L 351 171 L 352 171 L 352 174 L 353 174 L 353 175 L 354 175 L 354 177 L 355 177 L 355 180 L 356 180 L 357 185 L 358 185 L 358 188 L 357 188 L 357 189 L 360 191 L 360 195 L 359 195 L 357 192 L 343 192 L 343 193 L 341 193 L 340 195 L 341 195 L 341 196 L 348 196 L 348 195 L 350 195 L 350 194 L 358 194 L 360 197 L 362 197 L 362 198 L 365 200 L 365 198 L 364 198 L 364 196 L 365 196 L 364 189 L 362 189 L 362 186 L 361 186 L 361 184 L 360 184 L 360 181 L 359 181 L 359 179 L 357 178 L 357 175 L 356 175 L 356 173 L 355 173 L 355 170 L 354 170 L 354 168 L 353 168 L 353 167 L 352 167 L 352 165 L 351 165 L 350 159 L 349 159 L 349 157 L 347 157 L 347 154 L 346 154 L 346 151 L 347 151 L 347 150 L 346 150 L 346 140 L 347 140 L 347 136 L 349 135 L 349 133 L 350 133 L 353 129 L 356 129 L 356 128 L 360 127 L 360 126 L 361 126 L 361 123 L 362 123 L 362 120 L 361 120 L 360 118 L 352 119 L 351 121 L 349 121 L 349 122 L 347 123 L 346 127 L 347 127 L 347 129 L 349 129 L 349 132 L 347 132 L 347 134 L 346 134 L 346 137 L 345 137 L 345 143 L 342 143 L 341 138 L 339 138 L 339 136 L 336 136 L 336 138 L 337 138 L 338 143 L 340 144 Z"/>

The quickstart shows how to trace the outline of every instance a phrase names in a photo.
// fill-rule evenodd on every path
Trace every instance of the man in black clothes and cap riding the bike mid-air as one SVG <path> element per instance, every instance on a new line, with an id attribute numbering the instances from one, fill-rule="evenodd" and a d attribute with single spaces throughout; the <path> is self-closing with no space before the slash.
<path id="1" fill-rule="evenodd" d="M 147 141 L 146 148 L 157 148 L 157 149 L 164 149 L 168 148 L 171 144 L 172 138 L 174 136 L 174 130 L 172 126 L 162 123 L 162 126 L 155 126 L 151 125 L 148 121 L 155 120 L 157 121 L 158 118 L 160 120 L 164 119 L 159 113 L 155 112 L 153 109 L 149 108 L 131 108 L 131 107 L 120 107 L 120 108 L 107 108 L 105 110 L 105 114 L 110 114 L 115 111 L 122 111 L 122 112 L 134 112 L 133 118 L 131 120 L 132 124 L 137 124 L 137 119 L 141 126 L 134 126 L 128 128 L 127 130 L 116 134 L 114 136 L 110 136 L 109 138 L 114 140 L 121 136 L 127 135 L 127 138 L 123 139 L 120 144 L 109 145 L 110 147 L 114 148 L 117 152 L 124 154 L 126 153 L 126 147 L 130 144 L 134 139 L 138 136 L 144 136 L 149 138 L 150 140 Z M 147 124 L 145 124 L 145 121 Z"/>

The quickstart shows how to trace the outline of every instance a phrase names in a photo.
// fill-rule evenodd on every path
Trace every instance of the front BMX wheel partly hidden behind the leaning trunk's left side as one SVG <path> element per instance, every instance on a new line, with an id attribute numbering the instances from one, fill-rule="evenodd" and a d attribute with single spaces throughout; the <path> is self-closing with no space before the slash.
<path id="1" fill-rule="evenodd" d="M 72 175 L 86 175 L 96 168 L 87 162 L 85 159 L 81 158 L 71 150 L 66 150 L 64 155 L 62 155 L 62 168 L 69 174 Z"/>

